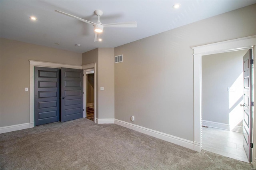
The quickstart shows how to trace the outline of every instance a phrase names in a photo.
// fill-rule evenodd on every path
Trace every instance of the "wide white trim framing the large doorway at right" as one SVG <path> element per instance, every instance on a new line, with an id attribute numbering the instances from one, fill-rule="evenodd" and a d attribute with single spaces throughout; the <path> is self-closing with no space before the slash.
<path id="1" fill-rule="evenodd" d="M 191 47 L 193 49 L 193 66 L 194 66 L 194 150 L 200 152 L 202 150 L 202 55 L 210 55 L 216 53 L 223 53 L 229 51 L 237 51 L 242 49 L 251 49 L 256 45 L 256 35 L 244 38 L 238 38 L 234 40 L 228 40 L 223 42 L 211 43 L 207 45 L 201 45 L 197 47 Z M 254 47 L 255 49 L 255 47 Z M 255 56 L 255 50 L 254 56 Z M 256 69 L 254 69 L 254 87 L 256 78 Z M 254 101 L 256 96 L 254 96 Z M 256 111 L 254 106 L 254 117 L 256 117 Z M 256 121 L 253 121 L 254 127 L 256 127 Z M 253 134 L 254 139 L 255 132 Z M 254 140 L 255 143 L 255 140 Z M 253 149 L 253 164 L 256 164 L 255 156 L 256 148 Z"/>

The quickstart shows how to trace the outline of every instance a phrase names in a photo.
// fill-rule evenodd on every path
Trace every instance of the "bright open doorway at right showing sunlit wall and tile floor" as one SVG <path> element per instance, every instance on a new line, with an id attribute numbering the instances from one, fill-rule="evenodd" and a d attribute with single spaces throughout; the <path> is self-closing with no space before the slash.
<path id="1" fill-rule="evenodd" d="M 243 56 L 202 56 L 202 149 L 248 162 L 243 147 Z"/>

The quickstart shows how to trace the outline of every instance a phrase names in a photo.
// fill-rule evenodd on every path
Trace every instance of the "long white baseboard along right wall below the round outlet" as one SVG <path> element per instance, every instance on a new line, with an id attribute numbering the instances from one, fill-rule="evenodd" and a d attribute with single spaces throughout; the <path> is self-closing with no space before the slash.
<path id="1" fill-rule="evenodd" d="M 162 139 L 162 140 L 174 143 L 174 144 L 178 144 L 178 145 L 183 146 L 185 148 L 189 148 L 189 149 L 194 150 L 194 142 L 193 141 L 186 140 L 186 139 L 183 139 L 183 138 L 179 138 L 179 137 L 176 137 L 176 136 L 172 136 L 170 134 L 166 134 L 166 133 L 159 132 L 159 131 L 156 131 L 156 130 L 152 130 L 152 129 L 149 129 L 149 128 L 141 127 L 141 126 L 138 126 L 138 125 L 134 125 L 132 123 L 120 121 L 118 119 L 114 119 L 114 120 L 115 120 L 114 122 L 115 122 L 116 125 L 120 125 L 122 127 L 130 128 L 132 130 L 136 130 L 138 132 L 148 134 L 148 135 L 153 136 L 155 138 L 159 138 L 159 139 Z"/>

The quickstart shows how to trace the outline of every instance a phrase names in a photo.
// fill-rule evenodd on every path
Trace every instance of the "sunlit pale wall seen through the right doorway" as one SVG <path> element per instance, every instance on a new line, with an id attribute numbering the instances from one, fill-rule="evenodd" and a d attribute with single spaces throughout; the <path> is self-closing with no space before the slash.
<path id="1" fill-rule="evenodd" d="M 241 125 L 243 56 L 248 50 L 202 56 L 203 120 Z M 235 91 L 228 91 L 233 87 Z"/>

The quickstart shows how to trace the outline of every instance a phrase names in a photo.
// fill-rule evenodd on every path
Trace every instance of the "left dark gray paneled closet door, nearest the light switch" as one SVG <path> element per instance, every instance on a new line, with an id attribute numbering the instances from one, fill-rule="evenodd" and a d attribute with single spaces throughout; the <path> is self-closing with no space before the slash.
<path id="1" fill-rule="evenodd" d="M 34 67 L 34 122 L 60 121 L 60 69 Z"/>

